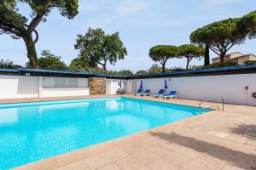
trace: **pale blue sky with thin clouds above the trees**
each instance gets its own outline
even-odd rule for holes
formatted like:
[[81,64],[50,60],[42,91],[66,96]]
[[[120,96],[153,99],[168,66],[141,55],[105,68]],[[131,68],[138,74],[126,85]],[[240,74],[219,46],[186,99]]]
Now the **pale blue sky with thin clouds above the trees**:
[[[88,27],[101,27],[106,33],[119,31],[128,50],[124,60],[108,65],[108,70],[147,70],[154,62],[148,57],[149,48],[158,44],[189,43],[189,35],[196,28],[213,21],[239,17],[256,10],[253,0],[80,0],[79,14],[67,20],[53,10],[47,22],[38,26],[38,55],[43,49],[62,57],[67,64],[77,57],[73,48],[77,34]],[[20,13],[29,15],[29,8],[20,5]],[[24,65],[26,47],[22,40],[0,35],[0,59],[10,59]],[[256,40],[231,48],[230,52],[256,54]],[[211,54],[214,57],[215,54]],[[192,60],[193,65],[201,65]],[[166,66],[185,66],[185,59],[170,59]]]

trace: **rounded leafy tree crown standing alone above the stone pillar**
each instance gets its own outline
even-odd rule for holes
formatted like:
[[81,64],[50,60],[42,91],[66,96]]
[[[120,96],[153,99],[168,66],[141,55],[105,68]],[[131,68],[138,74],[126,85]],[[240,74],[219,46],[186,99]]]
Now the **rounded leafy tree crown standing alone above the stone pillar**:
[[117,60],[124,59],[127,55],[119,32],[108,35],[101,28],[89,28],[84,36],[78,35],[74,47],[79,50],[80,57],[89,61],[90,67],[102,65],[104,70],[107,70],[107,62],[114,65]]

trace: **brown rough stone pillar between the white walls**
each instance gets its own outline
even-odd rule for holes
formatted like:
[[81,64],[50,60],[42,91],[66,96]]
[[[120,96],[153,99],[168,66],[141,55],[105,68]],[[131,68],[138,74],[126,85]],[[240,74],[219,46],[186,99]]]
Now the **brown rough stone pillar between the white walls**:
[[106,94],[106,77],[89,77],[90,95]]

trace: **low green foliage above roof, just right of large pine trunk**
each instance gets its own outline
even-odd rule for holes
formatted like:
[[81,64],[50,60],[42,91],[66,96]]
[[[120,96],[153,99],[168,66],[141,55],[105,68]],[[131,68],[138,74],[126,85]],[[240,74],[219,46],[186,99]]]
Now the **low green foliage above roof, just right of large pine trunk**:
[[[67,65],[61,61],[61,57],[50,54],[49,50],[43,50],[41,57],[38,59],[39,69],[67,71]],[[26,63],[26,67],[31,68],[30,63]]]

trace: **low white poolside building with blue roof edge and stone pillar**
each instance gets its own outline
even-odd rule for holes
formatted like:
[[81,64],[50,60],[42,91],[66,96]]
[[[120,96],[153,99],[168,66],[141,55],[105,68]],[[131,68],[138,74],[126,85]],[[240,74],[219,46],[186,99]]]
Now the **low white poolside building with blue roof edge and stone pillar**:
[[179,99],[207,100],[223,96],[226,103],[256,105],[256,99],[253,98],[253,93],[256,93],[256,65],[134,76],[3,69],[0,70],[0,99],[116,94],[120,86],[131,93],[137,91],[141,81],[143,90],[157,93],[160,88],[164,88],[165,80],[167,92],[176,90]]

